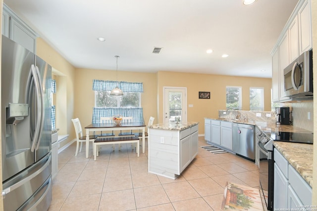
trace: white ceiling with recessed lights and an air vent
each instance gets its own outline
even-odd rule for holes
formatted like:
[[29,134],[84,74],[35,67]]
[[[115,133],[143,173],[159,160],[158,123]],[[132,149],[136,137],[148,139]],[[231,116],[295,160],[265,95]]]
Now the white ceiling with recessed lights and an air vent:
[[270,51],[297,2],[4,0],[77,68],[115,70],[119,55],[118,71],[261,78],[271,78]]

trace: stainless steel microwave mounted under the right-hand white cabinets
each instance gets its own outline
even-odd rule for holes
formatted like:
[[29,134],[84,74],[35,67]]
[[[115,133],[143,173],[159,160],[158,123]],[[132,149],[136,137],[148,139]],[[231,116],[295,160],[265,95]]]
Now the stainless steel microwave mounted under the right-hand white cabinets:
[[305,51],[284,69],[285,96],[313,98],[313,50]]

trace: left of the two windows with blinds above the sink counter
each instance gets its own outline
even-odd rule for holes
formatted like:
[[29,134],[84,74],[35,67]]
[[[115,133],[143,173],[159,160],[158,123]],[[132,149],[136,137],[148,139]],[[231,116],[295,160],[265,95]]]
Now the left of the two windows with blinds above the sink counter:
[[241,92],[240,86],[226,86],[226,109],[242,109]]

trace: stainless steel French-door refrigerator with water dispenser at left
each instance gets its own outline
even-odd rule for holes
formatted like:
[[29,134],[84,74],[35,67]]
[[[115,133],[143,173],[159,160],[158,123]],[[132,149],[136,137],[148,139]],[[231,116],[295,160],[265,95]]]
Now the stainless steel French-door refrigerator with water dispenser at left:
[[52,201],[52,67],[2,36],[1,146],[4,211]]

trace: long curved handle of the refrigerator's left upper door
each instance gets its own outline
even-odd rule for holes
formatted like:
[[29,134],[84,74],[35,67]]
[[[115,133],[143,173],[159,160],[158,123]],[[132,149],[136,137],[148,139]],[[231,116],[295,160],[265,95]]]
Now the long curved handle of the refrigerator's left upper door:
[[[33,82],[34,82],[36,102],[37,102],[38,107],[42,107],[42,104],[40,103],[41,99],[40,99],[39,82],[37,80],[37,73],[36,73],[36,69],[35,69],[33,64],[31,66],[31,73],[32,73],[32,78],[33,78]],[[40,109],[42,110],[42,108],[40,108]],[[32,147],[31,147],[32,152],[34,152],[35,147],[36,147],[36,143],[40,139],[40,129],[39,129],[41,126],[41,113],[39,112],[40,109],[37,110],[37,120],[36,120],[35,132],[34,132]]]

